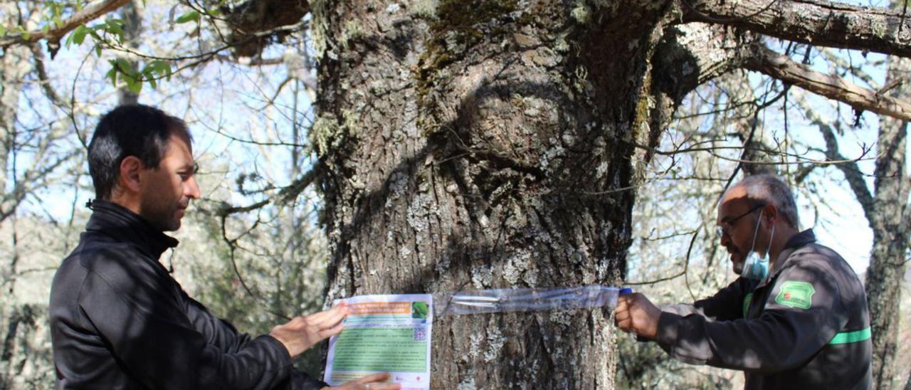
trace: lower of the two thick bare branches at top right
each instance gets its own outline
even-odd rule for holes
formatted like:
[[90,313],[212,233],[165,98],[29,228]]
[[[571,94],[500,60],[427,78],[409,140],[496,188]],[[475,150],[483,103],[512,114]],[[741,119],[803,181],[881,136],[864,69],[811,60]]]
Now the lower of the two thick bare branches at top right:
[[894,97],[882,96],[872,89],[860,87],[841,77],[816,72],[762,45],[753,46],[743,67],[841,101],[858,111],[872,111],[880,115],[911,120],[911,104]]

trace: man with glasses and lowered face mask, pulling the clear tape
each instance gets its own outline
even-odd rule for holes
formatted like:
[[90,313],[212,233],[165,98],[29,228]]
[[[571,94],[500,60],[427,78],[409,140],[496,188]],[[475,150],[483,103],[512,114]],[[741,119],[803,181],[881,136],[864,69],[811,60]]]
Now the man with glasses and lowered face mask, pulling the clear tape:
[[658,308],[640,293],[621,296],[619,328],[683,362],[742,370],[748,389],[871,388],[864,286],[797,221],[781,180],[745,178],[724,194],[717,220],[741,276],[691,305]]

